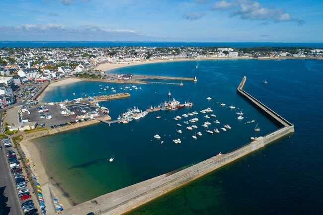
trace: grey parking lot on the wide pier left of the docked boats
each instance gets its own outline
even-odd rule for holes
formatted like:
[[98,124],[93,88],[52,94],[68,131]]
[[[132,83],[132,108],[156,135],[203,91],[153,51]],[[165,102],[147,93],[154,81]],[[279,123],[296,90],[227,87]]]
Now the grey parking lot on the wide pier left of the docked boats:
[[[55,125],[60,125],[60,124],[64,124],[67,123],[69,121],[75,121],[76,120],[76,116],[75,115],[71,115],[71,116],[64,116],[61,114],[61,109],[59,106],[57,105],[46,105],[46,108],[48,109],[48,111],[43,112],[43,113],[39,113],[37,110],[37,107],[40,107],[39,105],[36,107],[32,107],[29,108],[29,112],[30,115],[28,114],[28,112],[24,112],[23,114],[23,119],[29,119],[32,122],[37,122],[39,125],[44,123],[46,128],[51,128],[51,126],[55,126]],[[45,118],[40,118],[41,114],[45,115]],[[46,116],[51,114],[52,115],[52,119],[46,119]]]

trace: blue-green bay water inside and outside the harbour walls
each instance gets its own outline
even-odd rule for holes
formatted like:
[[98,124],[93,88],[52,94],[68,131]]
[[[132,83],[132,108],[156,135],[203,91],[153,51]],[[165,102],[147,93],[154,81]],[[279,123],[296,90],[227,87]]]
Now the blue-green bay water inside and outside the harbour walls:
[[[198,65],[198,69],[195,66]],[[116,73],[197,76],[197,83],[184,86],[137,85],[127,90],[129,99],[102,102],[112,119],[127,108],[146,109],[172,97],[191,101],[192,108],[148,114],[129,124],[96,124],[34,140],[49,176],[79,204],[99,195],[189,166],[221,152],[228,152],[278,127],[236,92],[243,75],[245,90],[295,124],[295,134],[273,143],[195,182],[177,189],[131,215],[321,215],[323,205],[323,61],[319,60],[209,60],[147,64],[114,70]],[[266,79],[268,84],[263,84]],[[100,86],[101,85],[101,86]],[[104,91],[101,87],[109,86]],[[109,94],[111,87],[124,92],[125,84],[78,82],[48,91],[44,101],[62,101],[87,95]],[[120,88],[123,89],[120,89]],[[73,96],[72,93],[76,93]],[[206,100],[206,97],[212,100]],[[226,107],[221,107],[226,103]],[[234,105],[244,113],[238,121]],[[215,119],[199,113],[198,131],[185,129],[177,115],[210,107]],[[161,119],[156,119],[160,115]],[[191,117],[192,118],[192,117]],[[190,119],[190,118],[188,118]],[[208,135],[210,128],[230,124],[231,131]],[[261,132],[255,134],[256,123]],[[180,123],[183,126],[177,127]],[[202,129],[203,128],[203,129]],[[181,129],[183,134],[178,134]],[[155,134],[161,136],[157,141]],[[171,140],[180,138],[181,144]],[[161,141],[164,143],[161,144]],[[108,159],[113,156],[112,163]]]

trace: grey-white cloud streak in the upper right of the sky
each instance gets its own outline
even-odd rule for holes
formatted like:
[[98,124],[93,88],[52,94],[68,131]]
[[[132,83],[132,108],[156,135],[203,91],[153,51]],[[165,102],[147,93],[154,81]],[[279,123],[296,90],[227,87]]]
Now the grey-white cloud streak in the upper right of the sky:
[[239,16],[248,20],[263,20],[273,22],[297,22],[304,24],[302,19],[292,18],[289,13],[274,7],[263,7],[253,0],[219,0],[215,2],[213,10],[231,10],[230,17]]

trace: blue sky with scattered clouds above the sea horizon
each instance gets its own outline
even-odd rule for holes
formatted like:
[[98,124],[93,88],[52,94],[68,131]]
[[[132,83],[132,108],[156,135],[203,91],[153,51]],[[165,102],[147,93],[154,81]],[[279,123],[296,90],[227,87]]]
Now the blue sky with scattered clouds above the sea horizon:
[[0,40],[323,42],[323,0],[1,0]]

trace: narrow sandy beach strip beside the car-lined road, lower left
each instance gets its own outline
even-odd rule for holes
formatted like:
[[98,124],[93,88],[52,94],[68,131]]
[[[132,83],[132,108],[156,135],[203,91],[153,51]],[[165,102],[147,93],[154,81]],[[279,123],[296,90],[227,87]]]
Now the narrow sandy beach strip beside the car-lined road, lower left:
[[36,175],[40,186],[43,187],[44,185],[49,184],[51,192],[59,202],[64,205],[64,209],[71,208],[75,205],[73,201],[65,195],[64,191],[56,185],[56,182],[49,178],[41,160],[37,145],[30,140],[23,140],[20,145],[26,154],[26,157],[29,159],[31,169],[34,175]]

